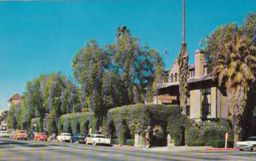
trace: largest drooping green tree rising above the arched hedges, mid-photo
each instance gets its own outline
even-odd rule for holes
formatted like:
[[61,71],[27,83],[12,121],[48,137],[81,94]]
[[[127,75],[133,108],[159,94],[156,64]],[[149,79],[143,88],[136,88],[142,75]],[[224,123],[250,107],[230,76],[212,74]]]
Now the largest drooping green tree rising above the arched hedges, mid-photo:
[[109,108],[148,99],[161,80],[160,64],[157,51],[141,48],[125,26],[117,28],[114,44],[100,47],[95,40],[88,41],[73,60],[73,75],[81,84],[80,110],[94,112],[99,129]]

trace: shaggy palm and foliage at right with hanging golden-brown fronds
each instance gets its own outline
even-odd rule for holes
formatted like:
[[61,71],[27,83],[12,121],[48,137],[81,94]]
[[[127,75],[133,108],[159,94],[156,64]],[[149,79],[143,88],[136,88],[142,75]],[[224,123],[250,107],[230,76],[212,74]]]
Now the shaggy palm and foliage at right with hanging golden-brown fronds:
[[256,13],[247,15],[241,28],[236,23],[219,27],[207,37],[205,52],[214,79],[228,95],[236,142],[256,77]]

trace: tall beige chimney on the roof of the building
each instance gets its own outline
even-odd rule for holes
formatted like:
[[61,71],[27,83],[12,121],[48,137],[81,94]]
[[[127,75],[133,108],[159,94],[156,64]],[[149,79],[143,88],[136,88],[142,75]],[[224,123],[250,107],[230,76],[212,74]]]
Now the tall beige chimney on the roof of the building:
[[201,49],[195,52],[195,79],[199,79],[204,75],[204,53]]

